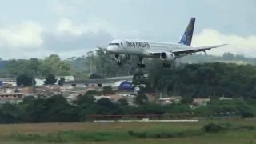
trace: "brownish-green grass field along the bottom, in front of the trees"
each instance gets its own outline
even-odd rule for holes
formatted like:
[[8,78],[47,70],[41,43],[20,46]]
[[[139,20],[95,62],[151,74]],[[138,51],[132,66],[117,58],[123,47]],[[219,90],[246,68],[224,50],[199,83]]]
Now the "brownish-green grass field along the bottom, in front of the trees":
[[256,144],[256,130],[237,130],[186,138],[135,138],[128,131],[161,133],[200,130],[207,123],[254,125],[256,120],[201,122],[102,122],[0,125],[1,144]]

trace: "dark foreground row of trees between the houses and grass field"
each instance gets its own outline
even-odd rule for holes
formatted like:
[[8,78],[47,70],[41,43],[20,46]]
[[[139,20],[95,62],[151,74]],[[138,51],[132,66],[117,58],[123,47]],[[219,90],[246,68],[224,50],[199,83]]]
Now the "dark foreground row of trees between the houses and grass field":
[[[6,102],[0,106],[0,123],[24,122],[86,122],[91,121],[91,115],[162,115],[166,114],[201,114],[206,118],[217,116],[254,117],[256,102],[241,100],[219,101],[212,99],[206,106],[190,108],[189,101],[183,99],[180,103],[160,105],[151,103],[143,93],[134,99],[135,106],[128,105],[126,99],[117,102],[109,98],[95,100],[94,92],[78,95],[74,101],[68,101],[62,95],[50,98],[25,97],[18,104]],[[183,117],[183,118],[184,118]],[[103,118],[103,119],[106,119]]]

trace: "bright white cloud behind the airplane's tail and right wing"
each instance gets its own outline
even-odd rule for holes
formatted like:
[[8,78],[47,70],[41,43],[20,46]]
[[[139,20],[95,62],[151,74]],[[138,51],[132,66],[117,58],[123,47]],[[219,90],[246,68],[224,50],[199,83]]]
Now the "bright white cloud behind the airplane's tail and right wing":
[[194,35],[192,46],[210,46],[218,44],[229,44],[207,51],[209,54],[222,55],[225,52],[233,54],[244,54],[256,56],[256,35],[241,37],[235,34],[221,34],[217,30],[204,29],[200,34]]

